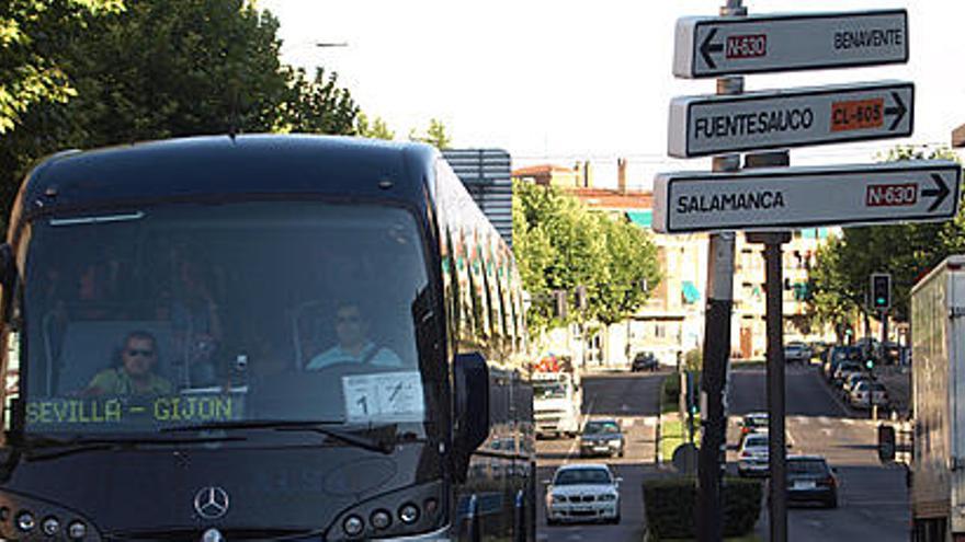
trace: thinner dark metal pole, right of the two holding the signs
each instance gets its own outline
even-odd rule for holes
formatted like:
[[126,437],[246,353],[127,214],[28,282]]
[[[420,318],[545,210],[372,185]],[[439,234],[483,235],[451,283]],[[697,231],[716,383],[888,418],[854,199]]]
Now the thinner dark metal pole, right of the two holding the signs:
[[[745,168],[786,166],[787,151],[748,154]],[[768,321],[768,484],[769,515],[772,542],[787,540],[787,446],[784,433],[784,307],[783,263],[781,245],[791,241],[788,232],[748,233],[751,243],[764,244]]]

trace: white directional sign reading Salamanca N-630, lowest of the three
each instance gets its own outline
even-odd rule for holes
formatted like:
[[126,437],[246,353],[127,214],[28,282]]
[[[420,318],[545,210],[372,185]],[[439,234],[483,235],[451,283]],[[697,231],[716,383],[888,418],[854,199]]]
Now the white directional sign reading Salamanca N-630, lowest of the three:
[[654,182],[654,230],[684,233],[950,219],[962,168],[945,160],[666,173]]

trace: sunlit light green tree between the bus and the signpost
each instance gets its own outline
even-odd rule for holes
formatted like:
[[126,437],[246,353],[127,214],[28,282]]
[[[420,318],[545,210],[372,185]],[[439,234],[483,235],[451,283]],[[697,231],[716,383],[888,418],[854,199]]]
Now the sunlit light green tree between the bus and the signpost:
[[[656,249],[647,234],[587,209],[557,188],[513,185],[513,252],[523,287],[533,297],[532,330],[576,321],[618,322],[636,312],[659,280]],[[575,310],[576,288],[588,292],[586,313]],[[554,315],[552,292],[565,290],[566,319]]]

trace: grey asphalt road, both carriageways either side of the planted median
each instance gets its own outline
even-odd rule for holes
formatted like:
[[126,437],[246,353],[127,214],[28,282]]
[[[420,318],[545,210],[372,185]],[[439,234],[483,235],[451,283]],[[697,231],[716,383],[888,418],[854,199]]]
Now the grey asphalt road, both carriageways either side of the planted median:
[[[666,374],[666,373],[665,373]],[[537,454],[541,480],[548,480],[559,464],[604,461],[623,477],[618,526],[547,527],[542,506],[537,524],[541,541],[605,540],[639,542],[644,533],[640,483],[666,471],[654,465],[656,415],[663,374],[612,374],[584,378],[583,414],[587,417],[617,417],[627,431],[629,446],[624,458],[581,459],[571,439],[540,440]],[[841,482],[840,506],[835,510],[793,508],[788,511],[788,538],[821,542],[875,542],[908,539],[909,508],[905,474],[899,468],[882,466],[875,451],[875,424],[866,413],[845,408],[820,379],[816,368],[792,367],[786,373],[787,430],[792,453],[819,453],[828,458]],[[730,377],[730,423],[728,442],[736,445],[736,422],[740,415],[763,411],[767,405],[763,369],[738,369]],[[736,459],[735,450],[728,460]],[[733,465],[730,465],[734,469]],[[768,538],[767,514],[758,526],[761,540]]]

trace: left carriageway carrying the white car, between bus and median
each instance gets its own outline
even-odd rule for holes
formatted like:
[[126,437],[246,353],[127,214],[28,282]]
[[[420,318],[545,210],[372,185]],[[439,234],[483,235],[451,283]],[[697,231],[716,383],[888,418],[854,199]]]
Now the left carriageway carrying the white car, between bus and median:
[[558,526],[546,524],[543,505],[546,485],[541,484],[537,507],[536,538],[540,541],[578,542],[640,542],[644,535],[643,489],[645,476],[654,475],[656,453],[657,394],[663,379],[661,373],[623,373],[583,378],[583,416],[586,418],[616,417],[627,438],[623,458],[582,459],[578,457],[576,440],[540,440],[536,443],[540,480],[548,480],[556,468],[571,462],[605,462],[623,478],[621,483],[621,516],[617,526]]

